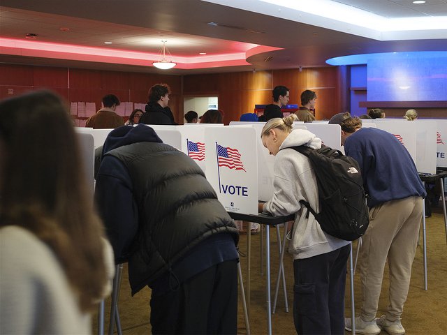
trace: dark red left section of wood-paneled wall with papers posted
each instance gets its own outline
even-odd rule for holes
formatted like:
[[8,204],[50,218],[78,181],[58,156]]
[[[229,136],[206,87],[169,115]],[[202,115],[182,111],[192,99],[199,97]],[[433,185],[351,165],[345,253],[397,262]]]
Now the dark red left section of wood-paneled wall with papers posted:
[[0,98],[45,88],[57,91],[68,102],[96,103],[97,109],[105,94],[115,94],[123,102],[147,103],[149,88],[160,82],[170,86],[170,108],[182,123],[182,78],[177,75],[0,64]]

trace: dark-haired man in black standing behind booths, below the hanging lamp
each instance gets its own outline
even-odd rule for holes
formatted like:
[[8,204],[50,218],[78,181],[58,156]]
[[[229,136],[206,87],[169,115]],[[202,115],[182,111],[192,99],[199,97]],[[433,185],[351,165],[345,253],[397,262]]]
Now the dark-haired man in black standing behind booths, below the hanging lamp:
[[168,107],[170,89],[167,84],[155,84],[149,89],[149,102],[140,124],[177,124]]

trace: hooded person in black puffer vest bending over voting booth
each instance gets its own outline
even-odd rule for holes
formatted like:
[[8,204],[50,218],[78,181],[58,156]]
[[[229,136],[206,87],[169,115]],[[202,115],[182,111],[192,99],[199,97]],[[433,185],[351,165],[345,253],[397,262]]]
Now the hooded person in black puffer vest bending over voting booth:
[[141,124],[102,154],[96,204],[132,295],[152,288],[153,334],[236,334],[239,235],[203,171]]

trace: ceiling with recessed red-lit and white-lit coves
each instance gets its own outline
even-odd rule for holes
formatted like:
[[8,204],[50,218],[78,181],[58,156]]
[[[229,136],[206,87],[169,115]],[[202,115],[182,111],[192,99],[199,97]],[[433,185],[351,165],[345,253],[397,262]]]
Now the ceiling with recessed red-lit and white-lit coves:
[[[182,75],[446,51],[447,0],[1,0],[0,63]],[[434,27],[430,27],[434,24]],[[24,38],[36,34],[35,40]],[[105,45],[105,42],[112,44]],[[205,52],[205,55],[200,55]]]

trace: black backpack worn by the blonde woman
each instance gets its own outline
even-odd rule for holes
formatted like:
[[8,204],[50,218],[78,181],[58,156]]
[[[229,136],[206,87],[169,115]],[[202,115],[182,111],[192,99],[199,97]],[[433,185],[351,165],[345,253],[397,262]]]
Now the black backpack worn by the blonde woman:
[[353,241],[365,234],[369,224],[368,208],[360,168],[355,159],[342,151],[321,147],[291,147],[309,157],[318,184],[320,213],[301,200],[328,234]]

